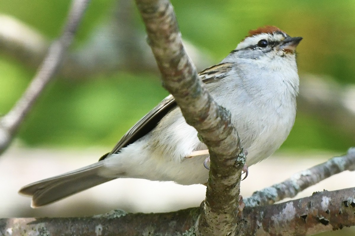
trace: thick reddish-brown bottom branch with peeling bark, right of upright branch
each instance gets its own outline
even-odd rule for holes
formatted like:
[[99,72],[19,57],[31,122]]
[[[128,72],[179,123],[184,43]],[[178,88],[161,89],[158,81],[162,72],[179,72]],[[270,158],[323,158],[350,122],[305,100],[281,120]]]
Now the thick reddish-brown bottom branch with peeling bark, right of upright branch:
[[[315,235],[355,225],[355,189],[316,192],[284,203],[246,207],[244,234],[258,236]],[[248,231],[249,230],[249,231]]]

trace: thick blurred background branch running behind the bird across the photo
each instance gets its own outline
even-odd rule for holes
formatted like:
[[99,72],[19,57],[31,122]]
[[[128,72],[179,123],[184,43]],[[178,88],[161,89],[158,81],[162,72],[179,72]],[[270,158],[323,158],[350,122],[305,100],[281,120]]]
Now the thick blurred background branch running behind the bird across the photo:
[[[67,53],[59,74],[68,79],[128,70],[134,73],[157,73],[152,52],[144,34],[133,26],[129,13],[133,2],[121,0],[113,8],[112,17],[92,32],[86,44]],[[120,17],[123,14],[124,17]],[[186,51],[197,68],[212,65],[212,59],[189,42]],[[0,53],[38,67],[48,51],[49,41],[37,31],[8,16],[0,16]],[[324,123],[338,127],[348,137],[355,133],[355,89],[340,86],[320,76],[301,76],[297,109],[319,117]],[[354,137],[355,141],[355,137]]]

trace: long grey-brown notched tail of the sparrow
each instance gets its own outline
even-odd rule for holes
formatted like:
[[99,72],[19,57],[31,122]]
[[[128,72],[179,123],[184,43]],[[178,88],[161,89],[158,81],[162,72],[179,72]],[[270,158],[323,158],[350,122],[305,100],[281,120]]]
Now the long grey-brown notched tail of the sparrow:
[[20,194],[32,196],[31,207],[40,207],[115,178],[98,175],[101,161],[22,187]]

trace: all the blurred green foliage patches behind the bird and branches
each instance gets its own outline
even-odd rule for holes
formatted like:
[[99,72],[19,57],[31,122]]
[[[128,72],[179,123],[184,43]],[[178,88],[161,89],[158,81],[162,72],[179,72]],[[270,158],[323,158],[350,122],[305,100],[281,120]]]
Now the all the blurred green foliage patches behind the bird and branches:
[[[247,31],[271,24],[291,36],[303,36],[298,48],[300,73],[331,75],[354,83],[355,2],[344,0],[173,0],[184,38],[208,50],[215,62],[233,50]],[[108,21],[114,1],[92,1],[75,45],[87,40],[95,27]],[[49,39],[60,35],[70,0],[0,1],[0,13],[11,15]],[[143,30],[137,12],[137,27]],[[124,32],[122,32],[124,33]],[[0,113],[15,103],[34,71],[0,54]],[[159,78],[123,71],[84,80],[57,78],[45,90],[20,129],[28,145],[113,146],[142,115],[167,93]],[[315,117],[297,114],[295,127],[283,145],[287,149],[345,150],[349,139]]]

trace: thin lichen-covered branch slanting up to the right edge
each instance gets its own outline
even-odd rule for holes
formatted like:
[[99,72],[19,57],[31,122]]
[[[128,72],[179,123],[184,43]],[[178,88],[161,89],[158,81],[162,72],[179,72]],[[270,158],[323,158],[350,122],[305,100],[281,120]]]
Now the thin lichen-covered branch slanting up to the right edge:
[[292,175],[289,179],[271,187],[254,192],[244,200],[248,207],[271,205],[286,197],[295,197],[304,189],[343,171],[354,171],[355,148],[350,148],[344,156],[334,157],[317,166]]

